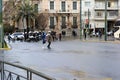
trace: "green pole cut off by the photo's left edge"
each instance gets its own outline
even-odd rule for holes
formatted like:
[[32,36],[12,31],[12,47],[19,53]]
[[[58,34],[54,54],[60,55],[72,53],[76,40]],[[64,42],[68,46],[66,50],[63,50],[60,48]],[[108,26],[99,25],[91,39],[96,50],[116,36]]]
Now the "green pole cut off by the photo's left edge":
[[2,22],[2,0],[0,0],[0,48],[4,47],[3,22]]

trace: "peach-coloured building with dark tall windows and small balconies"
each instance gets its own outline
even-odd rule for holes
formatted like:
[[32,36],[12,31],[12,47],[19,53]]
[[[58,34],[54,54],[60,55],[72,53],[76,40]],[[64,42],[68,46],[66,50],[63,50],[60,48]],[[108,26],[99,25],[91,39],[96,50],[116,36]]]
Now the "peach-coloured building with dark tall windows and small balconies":
[[39,12],[49,13],[46,30],[64,30],[67,34],[73,29],[79,30],[79,5],[79,0],[41,0],[38,4]]

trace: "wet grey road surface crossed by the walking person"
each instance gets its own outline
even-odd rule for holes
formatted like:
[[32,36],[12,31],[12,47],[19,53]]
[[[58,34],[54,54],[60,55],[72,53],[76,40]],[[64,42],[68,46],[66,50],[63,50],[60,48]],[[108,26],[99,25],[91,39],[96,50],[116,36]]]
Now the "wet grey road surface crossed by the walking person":
[[[11,42],[0,59],[43,72],[57,80],[120,80],[120,44],[80,40]],[[46,45],[47,46],[47,45]]]

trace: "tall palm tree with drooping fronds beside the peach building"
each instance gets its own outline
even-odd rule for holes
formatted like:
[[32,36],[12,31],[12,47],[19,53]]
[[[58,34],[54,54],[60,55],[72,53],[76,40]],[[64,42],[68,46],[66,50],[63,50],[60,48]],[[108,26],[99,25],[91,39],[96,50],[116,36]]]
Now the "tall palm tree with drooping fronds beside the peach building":
[[[24,32],[25,32],[25,26],[24,25],[26,23],[27,35],[28,35],[28,32],[29,32],[29,29],[31,28],[30,27],[31,23],[34,22],[35,18],[36,18],[36,13],[35,13],[35,9],[34,9],[33,5],[31,5],[28,1],[26,2],[25,0],[23,0],[23,3],[18,8],[16,21],[19,22],[20,20],[22,20]],[[28,38],[28,36],[26,36],[26,38]]]

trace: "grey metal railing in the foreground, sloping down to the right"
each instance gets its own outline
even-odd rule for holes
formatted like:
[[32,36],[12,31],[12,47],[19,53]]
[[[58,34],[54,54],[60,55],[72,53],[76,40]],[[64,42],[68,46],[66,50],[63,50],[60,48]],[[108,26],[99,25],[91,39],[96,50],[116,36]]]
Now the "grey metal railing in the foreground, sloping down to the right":
[[41,72],[6,61],[0,61],[0,74],[0,80],[55,80]]

